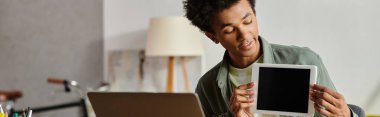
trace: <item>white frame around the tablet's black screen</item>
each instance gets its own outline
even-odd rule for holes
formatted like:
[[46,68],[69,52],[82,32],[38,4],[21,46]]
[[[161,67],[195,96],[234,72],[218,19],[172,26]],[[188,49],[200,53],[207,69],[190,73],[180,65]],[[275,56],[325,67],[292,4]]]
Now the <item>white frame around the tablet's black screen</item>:
[[[260,99],[257,98],[258,92],[257,89],[260,86],[259,84],[259,73],[261,67],[272,67],[272,68],[290,68],[290,69],[310,69],[310,85],[316,83],[317,79],[317,67],[314,65],[291,65],[291,64],[262,64],[262,63],[255,63],[252,68],[252,81],[255,83],[254,85],[254,99],[255,104],[253,108],[251,109],[253,113],[261,113],[261,114],[275,114],[275,115],[291,115],[291,116],[308,116],[312,117],[314,116],[314,106],[313,102],[310,100],[309,97],[309,104],[308,104],[308,112],[307,113],[301,113],[301,112],[284,112],[284,111],[272,111],[272,110],[258,110],[256,102]],[[310,87],[309,87],[310,90]],[[310,96],[310,95],[309,95]]]

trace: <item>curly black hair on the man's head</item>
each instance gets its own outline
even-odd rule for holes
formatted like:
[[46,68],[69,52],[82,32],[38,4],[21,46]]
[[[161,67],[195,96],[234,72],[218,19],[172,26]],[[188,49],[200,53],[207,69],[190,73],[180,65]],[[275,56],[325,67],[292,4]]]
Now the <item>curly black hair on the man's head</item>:
[[[211,21],[214,16],[228,9],[240,0],[185,0],[183,7],[186,11],[186,17],[191,23],[197,26],[203,32],[212,33]],[[248,0],[252,10],[255,9],[256,0]]]

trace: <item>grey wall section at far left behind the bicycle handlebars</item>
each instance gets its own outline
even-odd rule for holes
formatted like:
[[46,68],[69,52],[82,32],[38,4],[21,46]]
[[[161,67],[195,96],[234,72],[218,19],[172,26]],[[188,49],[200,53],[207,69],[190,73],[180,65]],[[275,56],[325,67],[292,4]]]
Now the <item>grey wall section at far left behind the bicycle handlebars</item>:
[[[100,83],[102,17],[102,0],[0,0],[0,90],[23,92],[17,110],[79,100],[49,76]],[[79,117],[79,109],[33,117]]]

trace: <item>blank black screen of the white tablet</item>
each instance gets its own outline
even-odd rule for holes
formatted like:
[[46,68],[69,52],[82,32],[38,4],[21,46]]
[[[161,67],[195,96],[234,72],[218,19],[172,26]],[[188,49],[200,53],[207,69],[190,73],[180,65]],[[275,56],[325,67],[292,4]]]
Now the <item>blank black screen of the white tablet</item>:
[[258,110],[307,113],[310,69],[259,69]]

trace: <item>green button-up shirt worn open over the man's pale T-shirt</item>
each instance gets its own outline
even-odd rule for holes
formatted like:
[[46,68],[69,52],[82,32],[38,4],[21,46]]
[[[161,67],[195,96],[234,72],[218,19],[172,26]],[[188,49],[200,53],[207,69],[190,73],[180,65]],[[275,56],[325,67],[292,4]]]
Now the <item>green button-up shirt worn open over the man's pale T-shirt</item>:
[[[321,58],[309,48],[270,44],[261,37],[259,40],[263,51],[263,63],[315,65],[318,67],[317,84],[336,90]],[[223,60],[204,74],[198,82],[195,92],[207,117],[233,116],[228,107],[233,91],[229,82],[229,63],[228,53],[225,52]],[[355,113],[352,115],[357,116]],[[314,116],[320,117],[321,114],[316,112]]]

